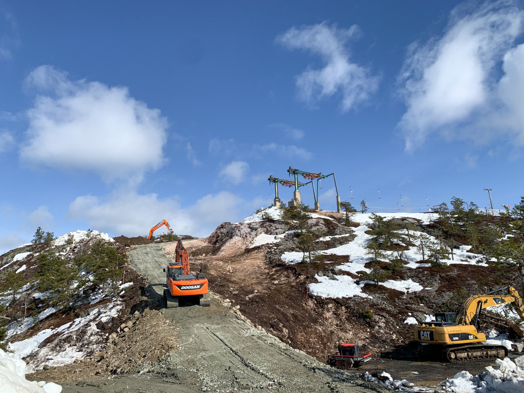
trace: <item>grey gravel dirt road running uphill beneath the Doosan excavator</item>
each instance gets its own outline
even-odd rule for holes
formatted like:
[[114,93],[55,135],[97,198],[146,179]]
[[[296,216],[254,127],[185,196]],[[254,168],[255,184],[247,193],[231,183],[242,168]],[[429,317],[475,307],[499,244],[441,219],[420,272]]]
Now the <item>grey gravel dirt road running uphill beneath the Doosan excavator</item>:
[[[162,268],[168,261],[162,245],[139,246],[129,258],[132,266],[151,283],[150,290],[161,296],[165,281]],[[267,388],[282,393],[370,393],[383,390],[327,367],[260,332],[217,297],[212,298],[209,308],[190,305],[166,310],[165,315],[176,327],[173,336],[176,336],[178,351],[151,365],[147,373],[84,386],[65,386],[64,392],[243,392]]]

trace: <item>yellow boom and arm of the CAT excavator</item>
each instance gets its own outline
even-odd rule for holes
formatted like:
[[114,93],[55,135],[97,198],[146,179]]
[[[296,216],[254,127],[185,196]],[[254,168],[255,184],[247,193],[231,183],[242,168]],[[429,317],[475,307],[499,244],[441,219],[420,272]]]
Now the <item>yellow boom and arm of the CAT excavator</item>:
[[467,299],[464,308],[457,314],[455,324],[477,325],[482,309],[505,303],[511,303],[520,316],[520,319],[524,321],[524,304],[522,298],[515,288],[508,286]]

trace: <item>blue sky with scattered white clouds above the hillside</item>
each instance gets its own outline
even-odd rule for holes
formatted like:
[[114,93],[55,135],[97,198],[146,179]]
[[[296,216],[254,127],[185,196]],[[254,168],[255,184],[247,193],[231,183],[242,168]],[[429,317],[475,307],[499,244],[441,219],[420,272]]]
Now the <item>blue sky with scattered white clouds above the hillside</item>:
[[37,226],[206,236],[289,166],[376,211],[513,205],[523,31],[518,1],[0,1],[0,252]]

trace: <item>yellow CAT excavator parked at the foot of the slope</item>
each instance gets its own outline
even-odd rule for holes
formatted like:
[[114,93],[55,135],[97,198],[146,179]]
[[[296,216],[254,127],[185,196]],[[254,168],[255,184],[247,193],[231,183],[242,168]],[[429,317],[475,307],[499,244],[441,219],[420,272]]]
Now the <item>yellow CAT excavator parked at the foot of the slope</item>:
[[[460,312],[436,313],[435,321],[415,327],[415,340],[421,344],[419,354],[440,356],[449,362],[506,357],[508,349],[504,345],[478,344],[486,341],[485,333],[479,332],[481,311],[504,303],[510,303],[524,321],[524,303],[515,288],[504,287],[478,294],[467,299]],[[506,322],[513,325],[514,331],[522,333],[517,324]]]

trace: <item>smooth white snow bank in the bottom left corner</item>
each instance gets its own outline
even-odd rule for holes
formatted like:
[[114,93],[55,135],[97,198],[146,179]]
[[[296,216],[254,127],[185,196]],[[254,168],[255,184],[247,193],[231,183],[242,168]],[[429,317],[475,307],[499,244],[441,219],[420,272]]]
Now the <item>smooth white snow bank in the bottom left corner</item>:
[[62,387],[45,381],[26,380],[26,362],[0,350],[0,389],[3,393],[60,393]]

